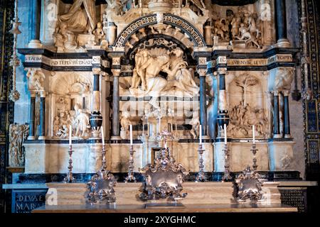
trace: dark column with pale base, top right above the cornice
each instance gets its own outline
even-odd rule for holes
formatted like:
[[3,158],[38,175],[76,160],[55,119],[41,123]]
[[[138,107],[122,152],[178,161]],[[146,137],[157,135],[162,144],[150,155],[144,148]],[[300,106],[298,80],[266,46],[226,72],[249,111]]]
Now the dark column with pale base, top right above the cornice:
[[277,45],[280,48],[289,48],[290,43],[287,38],[287,14],[286,14],[286,0],[274,0],[275,14],[276,14],[276,34]]

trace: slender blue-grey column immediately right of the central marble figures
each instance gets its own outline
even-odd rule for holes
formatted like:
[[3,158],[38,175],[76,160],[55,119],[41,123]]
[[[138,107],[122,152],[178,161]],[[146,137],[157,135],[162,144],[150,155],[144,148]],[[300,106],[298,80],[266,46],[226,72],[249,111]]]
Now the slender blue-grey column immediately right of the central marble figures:
[[200,77],[200,123],[202,135],[207,135],[207,100],[206,100],[206,69],[198,69]]

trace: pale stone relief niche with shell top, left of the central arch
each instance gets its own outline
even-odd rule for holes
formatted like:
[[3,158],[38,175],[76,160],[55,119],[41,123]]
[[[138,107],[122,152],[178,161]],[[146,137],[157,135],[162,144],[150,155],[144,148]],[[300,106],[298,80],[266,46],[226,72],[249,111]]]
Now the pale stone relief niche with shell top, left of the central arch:
[[91,72],[56,72],[50,78],[48,95],[50,138],[67,139],[70,125],[73,126],[73,137],[82,139],[90,137],[89,128],[83,133],[77,133],[77,128],[82,118],[89,123],[91,80]]

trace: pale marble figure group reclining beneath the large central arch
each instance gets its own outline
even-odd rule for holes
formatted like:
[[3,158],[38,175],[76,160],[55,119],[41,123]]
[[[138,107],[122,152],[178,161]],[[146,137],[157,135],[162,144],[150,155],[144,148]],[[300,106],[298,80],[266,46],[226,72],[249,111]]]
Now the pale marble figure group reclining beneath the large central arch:
[[[198,94],[199,89],[193,79],[193,71],[188,70],[188,64],[183,60],[183,50],[166,50],[165,48],[141,49],[134,57],[135,67],[132,77],[130,92],[150,95],[151,106],[159,109],[157,98],[161,92],[168,90],[180,90],[193,96]],[[160,76],[160,72],[166,72],[167,78]],[[141,88],[139,89],[139,85]]]

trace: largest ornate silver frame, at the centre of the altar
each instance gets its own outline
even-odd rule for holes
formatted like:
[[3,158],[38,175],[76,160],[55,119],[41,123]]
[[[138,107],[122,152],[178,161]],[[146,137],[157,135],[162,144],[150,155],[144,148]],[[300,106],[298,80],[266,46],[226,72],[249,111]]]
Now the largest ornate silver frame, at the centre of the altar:
[[184,199],[187,193],[181,194],[182,183],[189,174],[181,164],[176,164],[170,155],[169,148],[161,149],[155,165],[146,165],[144,171],[144,188],[139,198],[142,200],[154,199]]

